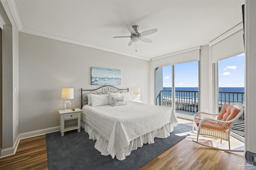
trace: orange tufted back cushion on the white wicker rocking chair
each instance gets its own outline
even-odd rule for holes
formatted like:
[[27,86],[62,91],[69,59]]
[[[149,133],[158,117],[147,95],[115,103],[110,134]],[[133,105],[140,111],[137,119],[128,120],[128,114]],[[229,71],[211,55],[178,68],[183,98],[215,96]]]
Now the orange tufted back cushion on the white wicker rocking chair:
[[231,106],[228,104],[223,104],[223,107],[222,107],[217,119],[221,120],[221,121],[232,120],[238,115],[239,111],[240,110],[234,106]]

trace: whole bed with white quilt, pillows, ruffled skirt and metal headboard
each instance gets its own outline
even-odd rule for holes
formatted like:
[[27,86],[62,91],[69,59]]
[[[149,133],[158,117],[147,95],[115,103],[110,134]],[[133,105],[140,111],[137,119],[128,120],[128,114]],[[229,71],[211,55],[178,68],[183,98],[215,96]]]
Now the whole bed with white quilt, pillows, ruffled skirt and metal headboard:
[[[113,97],[114,96],[114,97]],[[132,150],[170,136],[178,120],[172,107],[132,102],[129,89],[81,89],[81,126],[102,155],[124,160]]]

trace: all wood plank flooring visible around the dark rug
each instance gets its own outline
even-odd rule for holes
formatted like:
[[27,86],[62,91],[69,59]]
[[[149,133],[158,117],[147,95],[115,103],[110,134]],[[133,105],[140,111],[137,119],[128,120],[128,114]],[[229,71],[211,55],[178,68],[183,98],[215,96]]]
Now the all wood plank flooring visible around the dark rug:
[[[244,152],[208,149],[184,139],[140,170],[240,170],[238,158],[242,161]],[[20,169],[48,169],[45,135],[20,140],[15,155],[0,159],[0,170]]]

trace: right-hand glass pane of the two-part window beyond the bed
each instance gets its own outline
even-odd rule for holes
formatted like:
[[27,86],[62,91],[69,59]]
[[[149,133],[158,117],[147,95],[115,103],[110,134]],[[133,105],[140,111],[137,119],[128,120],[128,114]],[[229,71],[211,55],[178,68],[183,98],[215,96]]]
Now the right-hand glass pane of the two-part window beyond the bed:
[[175,64],[175,110],[187,115],[198,111],[198,61]]

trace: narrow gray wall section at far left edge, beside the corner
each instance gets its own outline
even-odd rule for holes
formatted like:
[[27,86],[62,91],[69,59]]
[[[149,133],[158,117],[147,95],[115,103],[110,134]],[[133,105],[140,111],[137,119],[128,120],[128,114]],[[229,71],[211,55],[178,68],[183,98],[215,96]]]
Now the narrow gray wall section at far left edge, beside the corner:
[[[1,156],[14,151],[14,143],[18,137],[18,93],[14,94],[14,86],[18,89],[18,29],[10,14],[6,1],[0,3],[0,15],[6,23],[2,30],[2,149]],[[8,16],[11,16],[10,18]],[[14,25],[14,26],[13,26]]]

